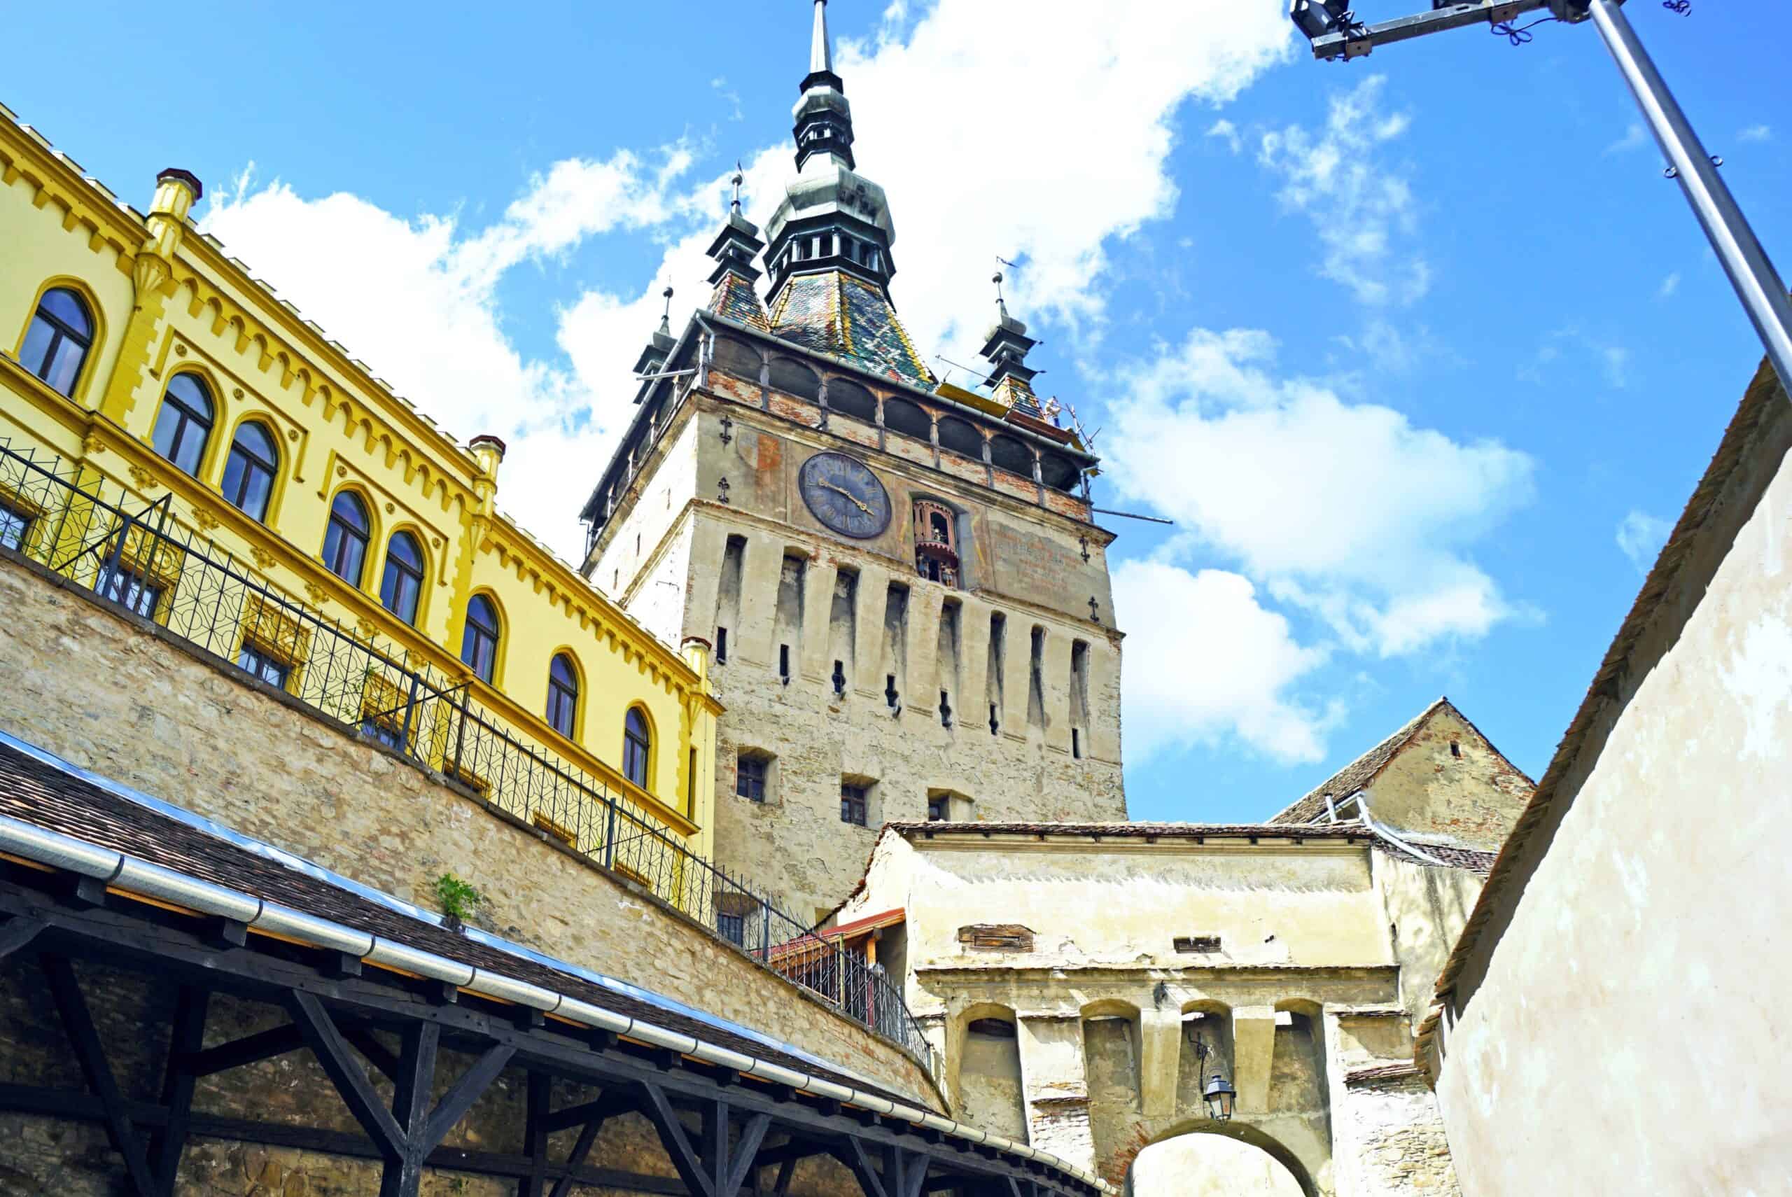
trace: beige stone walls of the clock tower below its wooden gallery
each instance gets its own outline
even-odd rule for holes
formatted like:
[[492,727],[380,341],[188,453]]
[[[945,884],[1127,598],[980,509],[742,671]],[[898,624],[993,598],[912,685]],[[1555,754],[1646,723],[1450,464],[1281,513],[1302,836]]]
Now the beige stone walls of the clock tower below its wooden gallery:
[[[796,477],[812,453],[842,448],[853,421],[819,430],[815,409],[780,419],[758,410],[756,382],[742,385],[713,373],[728,398],[694,392],[672,416],[590,561],[590,577],[658,634],[719,649],[719,862],[806,919],[851,891],[878,824],[925,819],[930,796],[952,796],[955,819],[1125,817],[1109,536],[930,469],[934,446],[919,446],[926,461],[878,453],[874,428],[864,455],[891,525],[835,536]],[[961,588],[916,575],[918,496],[961,511]],[[735,792],[742,751],[771,762],[765,803]],[[864,828],[840,819],[848,779],[869,790]]]

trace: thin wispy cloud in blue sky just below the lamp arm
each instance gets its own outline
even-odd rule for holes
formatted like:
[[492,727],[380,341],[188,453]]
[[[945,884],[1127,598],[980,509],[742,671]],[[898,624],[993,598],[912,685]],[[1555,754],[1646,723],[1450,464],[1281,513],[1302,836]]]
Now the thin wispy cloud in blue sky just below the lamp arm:
[[1314,224],[1321,274],[1378,306],[1412,303],[1430,288],[1412,186],[1382,156],[1410,124],[1405,113],[1383,111],[1385,88],[1385,75],[1369,75],[1331,97],[1324,129],[1288,125],[1265,133],[1258,147],[1258,161],[1283,181],[1279,201]]

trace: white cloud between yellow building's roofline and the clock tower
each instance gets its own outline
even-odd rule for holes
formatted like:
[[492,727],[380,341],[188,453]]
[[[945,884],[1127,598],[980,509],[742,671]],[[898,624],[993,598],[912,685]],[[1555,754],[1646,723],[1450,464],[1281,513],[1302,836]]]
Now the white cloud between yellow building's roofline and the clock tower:
[[586,373],[579,360],[566,369],[516,351],[496,287],[521,262],[685,213],[694,201],[672,186],[690,154],[667,147],[658,158],[556,163],[477,233],[453,215],[403,220],[344,192],[305,199],[281,181],[258,188],[246,172],[211,199],[201,228],[450,435],[505,437],[498,502],[575,555],[581,486],[595,482],[595,462],[633,414],[627,366],[652,317],[638,314],[634,344],[615,346],[616,369]]

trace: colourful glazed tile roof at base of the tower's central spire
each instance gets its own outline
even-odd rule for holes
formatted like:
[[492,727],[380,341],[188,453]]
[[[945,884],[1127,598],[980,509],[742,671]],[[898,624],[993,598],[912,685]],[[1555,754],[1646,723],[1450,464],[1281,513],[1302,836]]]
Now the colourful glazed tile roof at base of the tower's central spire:
[[874,375],[921,387],[934,375],[914,351],[883,292],[844,271],[799,274],[778,292],[771,332],[805,349],[831,353]]

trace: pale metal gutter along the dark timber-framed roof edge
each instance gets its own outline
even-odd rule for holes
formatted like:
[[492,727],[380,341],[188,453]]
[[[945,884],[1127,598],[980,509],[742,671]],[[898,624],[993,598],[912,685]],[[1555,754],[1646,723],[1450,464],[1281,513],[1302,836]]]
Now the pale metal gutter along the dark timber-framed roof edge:
[[1007,1154],[1036,1159],[1086,1184],[1095,1184],[1104,1192],[1113,1192],[1113,1188],[1095,1174],[1084,1172],[1082,1168],[1077,1168],[1050,1152],[1036,1150],[1025,1143],[1016,1143],[998,1134],[978,1131],[977,1127],[966,1127],[914,1106],[903,1106],[873,1093],[860,1093],[858,1089],[823,1081],[821,1077],[810,1077],[790,1068],[783,1068],[781,1064],[772,1064],[771,1061],[742,1055],[740,1052],[731,1052],[729,1048],[667,1030],[665,1027],[658,1027],[638,1018],[624,1018],[622,1014],[613,1014],[611,1011],[604,1011],[588,1002],[581,1002],[539,986],[530,986],[511,977],[489,973],[459,960],[450,960],[448,957],[435,955],[434,952],[410,948],[382,935],[358,932],[332,919],[290,910],[253,894],[244,894],[202,878],[176,873],[111,848],[100,848],[72,835],[63,835],[61,831],[50,831],[22,819],[13,819],[11,815],[0,815],[0,851],[68,873],[79,873],[81,876],[90,876],[116,891],[197,910],[199,914],[233,919],[246,923],[251,928],[274,932],[287,939],[312,943],[319,948],[346,952],[371,964],[403,968],[418,977],[441,980],[477,996],[495,998],[500,1002],[516,1002],[521,996],[525,1005],[539,1009],[545,1014],[556,1014],[597,1030],[609,1030],[616,1036],[668,1048],[679,1052],[681,1055],[692,1055],[726,1068],[738,1068],[747,1075],[762,1077],[776,1084],[787,1084],[810,1097],[857,1106],[858,1109],[869,1109],[876,1115],[900,1118],[918,1127],[962,1138],[969,1143],[984,1143]]

